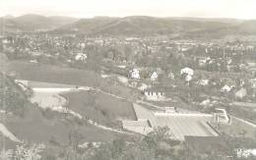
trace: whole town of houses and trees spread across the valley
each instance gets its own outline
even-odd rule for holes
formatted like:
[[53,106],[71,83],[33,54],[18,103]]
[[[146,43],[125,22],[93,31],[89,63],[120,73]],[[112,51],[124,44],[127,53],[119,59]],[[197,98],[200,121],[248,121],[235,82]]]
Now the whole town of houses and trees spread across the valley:
[[[221,81],[222,86],[220,92],[224,94],[232,92],[236,99],[243,100],[251,92],[249,89],[255,90],[256,87],[255,61],[250,58],[237,61],[237,59],[241,59],[241,56],[250,57],[251,54],[255,53],[255,45],[249,42],[234,41],[218,44],[192,40],[173,41],[164,37],[81,37],[76,34],[52,35],[49,33],[24,33],[15,36],[2,36],[0,39],[4,50],[26,53],[32,57],[30,60],[32,63],[37,63],[37,57],[40,58],[41,56],[62,60],[67,63],[86,63],[92,55],[90,52],[94,52],[94,48],[108,47],[110,50],[108,49],[106,52],[111,53],[110,57],[112,58],[110,59],[113,59],[114,65],[118,66],[121,70],[125,69],[126,66],[120,65],[120,62],[126,60],[123,55],[119,55],[120,53],[116,52],[116,48],[128,46],[132,54],[130,57],[135,59],[132,64],[133,68],[129,71],[128,78],[134,81],[140,81],[140,86],[138,86],[140,90],[147,89],[150,84],[158,84],[162,75],[169,80],[175,80],[175,76],[181,77],[187,86],[193,82],[201,86],[207,86],[211,83],[218,83],[219,81],[211,81],[209,78],[198,80],[196,74],[198,71],[207,70],[208,72],[232,73],[233,69],[250,73],[251,77],[244,78],[246,83],[238,86],[233,82],[225,81],[222,83]],[[89,48],[93,48],[93,51],[89,51]],[[140,57],[144,57],[143,55],[155,57],[156,61],[162,61],[163,57],[161,56],[170,56],[173,54],[185,60],[186,64],[190,64],[188,65],[189,67],[183,65],[183,68],[178,71],[179,73],[170,70],[168,72],[164,70],[163,72],[160,66],[142,67],[137,62]],[[109,58],[107,55],[106,58]],[[113,58],[116,55],[117,58]],[[136,68],[135,66],[139,67]],[[153,92],[145,93],[145,96],[147,95],[147,99],[164,100],[164,94],[164,92],[153,90]],[[252,94],[252,96],[255,96],[255,91]]]

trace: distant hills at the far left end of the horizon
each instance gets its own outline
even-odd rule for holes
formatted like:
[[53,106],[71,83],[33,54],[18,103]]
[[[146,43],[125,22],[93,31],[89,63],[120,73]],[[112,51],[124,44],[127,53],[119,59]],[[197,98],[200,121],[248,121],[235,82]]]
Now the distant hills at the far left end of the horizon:
[[38,31],[49,30],[76,22],[78,19],[70,17],[44,17],[40,15],[24,15],[20,17],[0,18],[1,31]]

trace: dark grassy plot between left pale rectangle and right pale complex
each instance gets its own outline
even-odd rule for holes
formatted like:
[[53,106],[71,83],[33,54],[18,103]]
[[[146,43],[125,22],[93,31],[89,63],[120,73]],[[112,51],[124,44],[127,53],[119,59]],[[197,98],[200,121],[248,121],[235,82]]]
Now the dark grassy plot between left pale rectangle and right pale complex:
[[120,127],[118,120],[135,120],[132,103],[96,91],[65,94],[68,108],[108,127]]

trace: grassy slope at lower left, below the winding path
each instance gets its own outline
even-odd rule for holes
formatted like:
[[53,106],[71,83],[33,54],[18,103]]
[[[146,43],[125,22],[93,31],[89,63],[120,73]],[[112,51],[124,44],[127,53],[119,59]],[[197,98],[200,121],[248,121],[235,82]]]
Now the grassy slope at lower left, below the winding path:
[[[5,81],[4,86],[12,88],[10,93],[8,92],[10,96],[15,92],[20,95],[20,99],[24,102],[24,104],[21,105],[20,101],[18,101],[19,103],[17,102],[18,104],[14,105],[16,101],[13,102],[12,98],[8,98],[8,101],[12,103],[6,103],[6,108],[4,109],[9,111],[10,109],[8,108],[12,106],[12,110],[9,111],[9,114],[0,114],[0,123],[20,140],[29,143],[43,142],[49,145],[54,141],[54,144],[63,146],[69,144],[70,134],[74,132],[80,134],[80,143],[86,141],[109,141],[117,136],[123,135],[99,129],[73,116],[54,112],[49,109],[42,110],[27,100],[23,90],[20,89],[13,80],[5,78],[4,75],[0,75],[0,80]],[[1,93],[6,92],[3,88],[4,87],[0,88]],[[1,101],[6,101],[9,94],[3,94]],[[15,99],[17,100],[17,97],[15,97]],[[0,103],[0,108],[2,109],[3,106],[1,106],[1,104],[2,103]],[[20,111],[20,114],[13,114],[16,113],[17,110]],[[3,136],[1,135],[1,137]],[[0,146],[5,145],[5,147],[8,148],[14,147],[15,144],[13,144],[11,140],[5,137],[3,138],[6,140],[1,140]]]

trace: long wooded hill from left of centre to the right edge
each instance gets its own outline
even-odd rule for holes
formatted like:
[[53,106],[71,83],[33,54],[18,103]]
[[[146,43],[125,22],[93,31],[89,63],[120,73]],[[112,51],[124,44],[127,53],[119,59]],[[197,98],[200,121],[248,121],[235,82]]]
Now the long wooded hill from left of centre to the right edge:
[[229,34],[256,34],[255,21],[236,19],[125,18],[81,19],[55,32],[79,32],[89,35],[175,35],[177,37],[222,37]]

